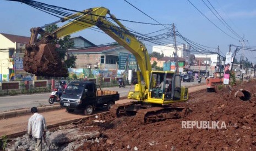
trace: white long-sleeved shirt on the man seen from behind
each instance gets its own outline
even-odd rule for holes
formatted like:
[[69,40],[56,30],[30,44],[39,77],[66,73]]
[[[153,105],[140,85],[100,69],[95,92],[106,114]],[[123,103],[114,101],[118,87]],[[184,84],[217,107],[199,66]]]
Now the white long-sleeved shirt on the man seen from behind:
[[45,118],[41,114],[34,113],[29,118],[28,133],[31,133],[35,138],[41,138],[44,130],[46,130]]

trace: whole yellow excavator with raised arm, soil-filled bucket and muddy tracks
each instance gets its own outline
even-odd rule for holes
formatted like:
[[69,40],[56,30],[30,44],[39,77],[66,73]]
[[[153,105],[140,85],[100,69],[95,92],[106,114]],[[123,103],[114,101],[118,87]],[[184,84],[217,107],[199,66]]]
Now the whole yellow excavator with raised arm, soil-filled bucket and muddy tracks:
[[[109,15],[115,24],[108,21],[106,15]],[[85,28],[97,26],[129,50],[139,66],[138,84],[135,85],[134,91],[128,94],[128,99],[132,100],[129,103],[112,106],[110,110],[112,115],[116,117],[123,114],[135,115],[136,119],[150,123],[168,118],[181,118],[189,112],[187,108],[172,106],[172,103],[188,100],[188,88],[181,86],[180,75],[171,71],[152,71],[145,45],[110,14],[110,10],[104,7],[86,9],[61,21],[67,20],[68,24],[52,33],[47,33],[42,27],[31,28],[31,39],[26,45],[24,55],[24,69],[27,72],[53,77],[67,76],[67,69],[63,67],[53,41]],[[37,39],[38,34],[41,34],[41,39]],[[144,82],[141,82],[142,80]]]

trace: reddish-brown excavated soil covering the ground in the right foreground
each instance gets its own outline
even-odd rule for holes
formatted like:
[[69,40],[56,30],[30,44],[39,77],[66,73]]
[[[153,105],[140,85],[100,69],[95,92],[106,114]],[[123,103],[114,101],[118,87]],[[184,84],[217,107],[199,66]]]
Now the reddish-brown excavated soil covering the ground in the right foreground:
[[[239,98],[243,97],[242,93],[235,97],[241,88],[250,92],[248,101]],[[74,141],[77,146],[72,150],[256,150],[256,80],[237,84],[231,90],[224,86],[216,92],[194,92],[189,101],[176,104],[192,109],[182,119],[141,124],[134,117],[97,115],[72,127],[81,132],[100,132],[100,135],[83,142]],[[182,127],[184,121],[199,124],[193,129],[191,125]],[[211,129],[213,125],[200,127],[200,121],[219,122],[220,129]]]

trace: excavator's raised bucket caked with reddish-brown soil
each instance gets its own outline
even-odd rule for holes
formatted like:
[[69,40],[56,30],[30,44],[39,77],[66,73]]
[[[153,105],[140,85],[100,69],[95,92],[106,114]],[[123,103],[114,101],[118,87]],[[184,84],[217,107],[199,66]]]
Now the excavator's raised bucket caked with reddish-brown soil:
[[68,70],[59,58],[56,46],[50,43],[26,45],[23,68],[37,76],[68,77]]

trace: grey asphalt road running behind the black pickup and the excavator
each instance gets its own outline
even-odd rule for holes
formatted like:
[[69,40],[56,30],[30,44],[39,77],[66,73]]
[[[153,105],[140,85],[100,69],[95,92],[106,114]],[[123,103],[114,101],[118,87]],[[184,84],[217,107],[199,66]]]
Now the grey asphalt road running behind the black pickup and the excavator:
[[[202,82],[205,82],[205,79],[202,79]],[[194,82],[181,82],[181,85],[190,86],[197,84],[198,81]],[[127,85],[126,88],[104,88],[103,90],[118,91],[120,96],[127,96],[129,91],[134,90],[134,86]],[[21,108],[31,108],[39,106],[49,106],[48,98],[50,97],[51,92],[42,93],[42,94],[32,94],[32,95],[15,95],[15,96],[2,96],[0,97],[0,112],[10,111],[14,109]],[[58,103],[58,102],[56,102]]]

